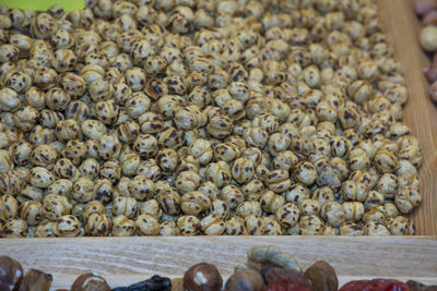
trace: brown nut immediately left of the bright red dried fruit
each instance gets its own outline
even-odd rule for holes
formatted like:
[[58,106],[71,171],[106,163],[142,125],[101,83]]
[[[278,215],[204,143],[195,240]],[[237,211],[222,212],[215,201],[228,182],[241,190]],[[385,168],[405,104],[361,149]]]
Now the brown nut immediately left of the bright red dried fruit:
[[305,270],[304,276],[311,281],[316,291],[336,291],[339,279],[335,270],[327,262],[318,260]]

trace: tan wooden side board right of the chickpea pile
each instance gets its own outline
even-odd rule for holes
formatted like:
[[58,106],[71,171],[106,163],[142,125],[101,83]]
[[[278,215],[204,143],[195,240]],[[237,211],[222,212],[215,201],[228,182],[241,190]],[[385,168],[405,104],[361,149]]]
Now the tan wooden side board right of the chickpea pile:
[[421,141],[424,156],[418,172],[423,203],[412,218],[417,234],[437,235],[437,108],[427,96],[428,82],[423,68],[429,60],[418,45],[420,22],[413,3],[413,0],[379,0],[379,19],[395,59],[401,62],[409,88],[404,121]]

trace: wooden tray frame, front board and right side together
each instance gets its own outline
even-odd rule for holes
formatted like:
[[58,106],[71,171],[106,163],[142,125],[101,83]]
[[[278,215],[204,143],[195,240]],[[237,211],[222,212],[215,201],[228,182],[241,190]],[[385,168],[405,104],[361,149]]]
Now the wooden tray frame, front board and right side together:
[[402,63],[410,92],[405,122],[418,136],[424,162],[420,171],[423,205],[413,214],[422,237],[197,237],[76,238],[0,240],[0,255],[25,269],[51,272],[54,289],[69,288],[83,272],[103,275],[111,287],[153,274],[180,277],[199,262],[215,264],[224,276],[246,260],[250,246],[274,244],[294,254],[303,267],[331,263],[341,283],[362,278],[416,279],[437,284],[437,109],[426,95],[422,69],[428,63],[417,45],[418,22],[411,0],[379,0],[381,25]]

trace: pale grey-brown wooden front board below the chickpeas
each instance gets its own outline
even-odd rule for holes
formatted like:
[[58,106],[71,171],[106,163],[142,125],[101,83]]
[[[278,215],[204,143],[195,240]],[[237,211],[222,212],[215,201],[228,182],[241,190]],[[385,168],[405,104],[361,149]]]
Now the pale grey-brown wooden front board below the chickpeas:
[[346,279],[383,276],[437,283],[436,237],[14,239],[0,241],[0,255],[17,259],[25,269],[54,274],[56,287],[66,288],[79,274],[87,271],[119,286],[153,274],[181,276],[200,262],[215,264],[226,276],[246,260],[251,246],[265,244],[293,254],[303,268],[318,259],[327,260]]

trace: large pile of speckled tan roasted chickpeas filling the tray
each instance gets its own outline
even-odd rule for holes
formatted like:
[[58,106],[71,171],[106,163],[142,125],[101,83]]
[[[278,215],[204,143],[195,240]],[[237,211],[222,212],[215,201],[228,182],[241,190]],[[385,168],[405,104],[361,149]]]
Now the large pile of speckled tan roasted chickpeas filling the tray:
[[414,234],[374,0],[0,4],[0,237]]

